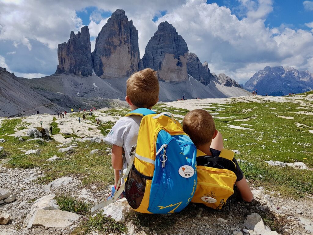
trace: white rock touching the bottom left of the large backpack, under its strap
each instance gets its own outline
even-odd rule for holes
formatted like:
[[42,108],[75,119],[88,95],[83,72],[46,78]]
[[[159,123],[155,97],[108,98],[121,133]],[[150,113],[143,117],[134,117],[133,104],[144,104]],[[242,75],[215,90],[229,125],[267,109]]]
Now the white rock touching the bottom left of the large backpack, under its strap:
[[126,217],[132,212],[131,206],[128,205],[126,198],[111,203],[103,207],[103,214],[111,216],[116,221],[125,222]]

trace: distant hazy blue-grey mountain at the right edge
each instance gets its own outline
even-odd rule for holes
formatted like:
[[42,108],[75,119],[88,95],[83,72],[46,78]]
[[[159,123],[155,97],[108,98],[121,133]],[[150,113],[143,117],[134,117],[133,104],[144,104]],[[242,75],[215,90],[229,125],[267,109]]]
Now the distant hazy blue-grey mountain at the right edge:
[[292,67],[266,66],[255,73],[244,85],[248,91],[258,90],[258,95],[284,96],[313,90],[313,74]]

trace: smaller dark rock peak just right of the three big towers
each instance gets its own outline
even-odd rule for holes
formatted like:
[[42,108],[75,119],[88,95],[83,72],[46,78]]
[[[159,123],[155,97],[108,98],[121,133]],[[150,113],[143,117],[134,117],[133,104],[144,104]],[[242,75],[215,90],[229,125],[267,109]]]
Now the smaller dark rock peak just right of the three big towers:
[[197,81],[200,81],[204,85],[210,83],[211,72],[208,69],[208,62],[203,65],[198,56],[192,52],[188,53],[187,57],[187,72]]

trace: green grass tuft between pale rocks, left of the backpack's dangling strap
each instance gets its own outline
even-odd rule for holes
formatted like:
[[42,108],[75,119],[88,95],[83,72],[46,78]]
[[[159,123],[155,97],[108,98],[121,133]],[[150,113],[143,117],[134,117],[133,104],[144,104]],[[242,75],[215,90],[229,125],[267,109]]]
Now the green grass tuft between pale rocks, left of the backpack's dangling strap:
[[87,215],[90,212],[90,203],[83,199],[71,196],[70,194],[57,194],[54,199],[57,201],[60,210],[73,212],[80,215]]

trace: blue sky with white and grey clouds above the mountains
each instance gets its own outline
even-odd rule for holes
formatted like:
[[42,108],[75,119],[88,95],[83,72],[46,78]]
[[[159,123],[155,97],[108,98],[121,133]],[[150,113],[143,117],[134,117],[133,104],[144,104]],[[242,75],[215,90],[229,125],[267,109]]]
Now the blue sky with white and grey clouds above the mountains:
[[313,72],[313,0],[0,0],[0,66],[27,78],[53,74],[58,44],[88,25],[93,51],[117,8],[138,30],[141,58],[167,20],[189,52],[239,83],[265,66]]

